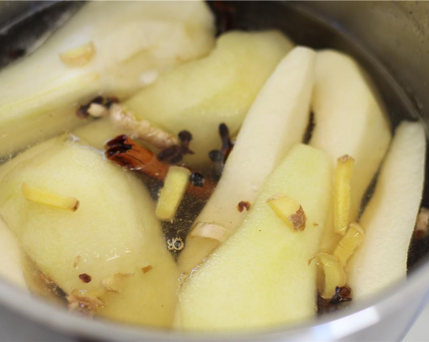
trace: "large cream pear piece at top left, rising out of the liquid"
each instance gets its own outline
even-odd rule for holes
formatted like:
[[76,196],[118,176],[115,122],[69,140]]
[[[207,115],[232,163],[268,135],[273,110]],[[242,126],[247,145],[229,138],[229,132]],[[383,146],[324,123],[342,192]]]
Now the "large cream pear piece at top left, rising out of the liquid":
[[207,54],[213,22],[202,1],[85,4],[36,51],[0,71],[0,155],[82,124],[77,102],[130,96],[148,73]]

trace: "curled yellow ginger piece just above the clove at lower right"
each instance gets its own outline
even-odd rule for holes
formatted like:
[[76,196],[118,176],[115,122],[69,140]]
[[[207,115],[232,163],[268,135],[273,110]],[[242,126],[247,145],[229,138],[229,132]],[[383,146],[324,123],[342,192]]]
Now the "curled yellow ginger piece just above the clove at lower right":
[[317,290],[323,298],[332,298],[335,287],[344,286],[346,282],[343,265],[328,253],[318,253],[313,259],[317,263]]

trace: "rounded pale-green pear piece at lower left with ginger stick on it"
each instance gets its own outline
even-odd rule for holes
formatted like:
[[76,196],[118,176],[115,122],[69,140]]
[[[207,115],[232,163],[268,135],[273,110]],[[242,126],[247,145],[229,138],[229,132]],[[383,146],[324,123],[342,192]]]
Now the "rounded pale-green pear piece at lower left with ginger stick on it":
[[[33,157],[24,156],[31,149],[24,153],[0,182],[1,213],[24,253],[69,296],[72,307],[83,304],[105,317],[169,327],[178,274],[144,185],[69,139],[54,139],[40,150]],[[79,209],[29,201],[22,183],[73,194]],[[103,286],[115,274],[133,274],[118,292]]]

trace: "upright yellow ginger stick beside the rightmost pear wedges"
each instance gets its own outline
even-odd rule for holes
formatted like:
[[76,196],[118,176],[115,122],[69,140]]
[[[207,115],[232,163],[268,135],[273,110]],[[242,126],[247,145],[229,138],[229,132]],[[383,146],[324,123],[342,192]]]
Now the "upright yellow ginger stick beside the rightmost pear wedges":
[[350,179],[353,173],[354,159],[347,154],[339,157],[335,170],[334,229],[341,235],[350,223]]

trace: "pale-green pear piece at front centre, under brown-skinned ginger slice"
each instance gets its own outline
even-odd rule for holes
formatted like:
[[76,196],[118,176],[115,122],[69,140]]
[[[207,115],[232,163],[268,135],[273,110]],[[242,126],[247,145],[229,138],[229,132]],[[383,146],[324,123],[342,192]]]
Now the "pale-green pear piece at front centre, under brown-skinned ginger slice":
[[[176,328],[255,330],[314,317],[316,263],[308,261],[332,210],[332,166],[323,151],[308,145],[290,150],[245,222],[181,287]],[[303,231],[290,229],[266,203],[278,192],[302,206],[311,222]]]

